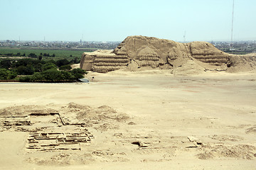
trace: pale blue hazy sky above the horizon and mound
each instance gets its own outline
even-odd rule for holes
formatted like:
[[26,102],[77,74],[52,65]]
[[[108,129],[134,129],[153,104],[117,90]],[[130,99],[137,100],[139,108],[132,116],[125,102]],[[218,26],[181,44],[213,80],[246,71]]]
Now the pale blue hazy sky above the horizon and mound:
[[[0,0],[0,40],[230,40],[233,0]],[[256,40],[256,1],[235,0],[234,40]],[[82,36],[83,35],[83,36]]]

